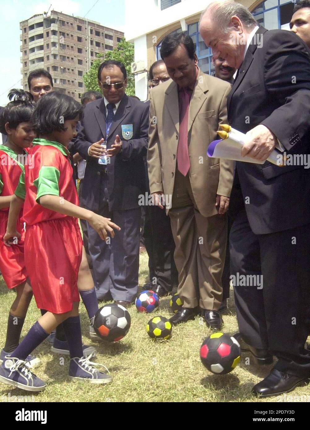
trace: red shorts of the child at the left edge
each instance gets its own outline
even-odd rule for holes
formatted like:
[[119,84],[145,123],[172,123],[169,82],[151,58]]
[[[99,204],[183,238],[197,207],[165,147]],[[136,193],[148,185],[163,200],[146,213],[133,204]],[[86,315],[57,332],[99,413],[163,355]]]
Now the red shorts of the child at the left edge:
[[0,211],[0,270],[8,288],[14,288],[25,282],[27,271],[24,259],[24,223],[21,222],[21,214],[17,221],[17,231],[21,233],[18,244],[6,246],[3,236],[6,233],[9,212]]

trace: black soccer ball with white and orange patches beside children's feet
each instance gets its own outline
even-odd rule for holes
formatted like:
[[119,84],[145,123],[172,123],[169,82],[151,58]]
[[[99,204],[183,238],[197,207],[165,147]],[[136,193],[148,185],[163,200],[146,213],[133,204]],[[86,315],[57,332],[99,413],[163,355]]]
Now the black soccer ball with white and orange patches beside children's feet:
[[97,310],[94,329],[101,339],[117,342],[129,331],[131,318],[128,310],[117,303],[105,304]]

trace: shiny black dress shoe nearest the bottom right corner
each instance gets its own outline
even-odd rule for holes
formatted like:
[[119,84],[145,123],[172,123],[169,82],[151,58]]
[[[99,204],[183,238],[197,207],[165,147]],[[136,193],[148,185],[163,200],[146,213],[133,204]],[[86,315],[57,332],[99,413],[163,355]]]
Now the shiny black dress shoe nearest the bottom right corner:
[[260,397],[276,396],[277,394],[289,393],[294,388],[309,383],[309,378],[304,376],[293,376],[288,373],[272,369],[270,374],[253,388],[252,393]]

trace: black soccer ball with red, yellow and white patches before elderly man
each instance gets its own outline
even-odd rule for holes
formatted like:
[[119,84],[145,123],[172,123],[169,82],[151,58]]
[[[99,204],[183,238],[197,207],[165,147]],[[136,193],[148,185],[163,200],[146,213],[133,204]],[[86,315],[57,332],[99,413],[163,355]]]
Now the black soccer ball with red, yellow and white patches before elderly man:
[[240,345],[233,336],[216,332],[200,347],[203,365],[216,375],[231,372],[240,361]]

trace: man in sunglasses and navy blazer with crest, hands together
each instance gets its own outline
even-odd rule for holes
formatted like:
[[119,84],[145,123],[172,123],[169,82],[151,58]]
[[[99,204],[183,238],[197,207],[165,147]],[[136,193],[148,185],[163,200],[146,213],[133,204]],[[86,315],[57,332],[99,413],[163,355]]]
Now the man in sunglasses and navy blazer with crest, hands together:
[[121,227],[102,241],[88,225],[97,298],[127,306],[138,289],[141,207],[146,191],[149,105],[125,94],[126,68],[104,61],[98,69],[104,98],[87,104],[74,149],[87,160],[81,203]]

